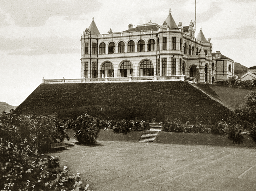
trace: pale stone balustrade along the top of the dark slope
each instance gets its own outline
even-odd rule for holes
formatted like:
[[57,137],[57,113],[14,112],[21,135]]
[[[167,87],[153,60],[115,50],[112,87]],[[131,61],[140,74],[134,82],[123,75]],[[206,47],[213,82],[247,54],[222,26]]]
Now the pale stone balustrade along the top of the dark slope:
[[44,79],[42,83],[102,83],[102,82],[145,82],[145,81],[188,81],[196,83],[194,77],[185,75],[175,76],[129,76],[129,77],[100,77],[100,78],[81,78],[81,79]]

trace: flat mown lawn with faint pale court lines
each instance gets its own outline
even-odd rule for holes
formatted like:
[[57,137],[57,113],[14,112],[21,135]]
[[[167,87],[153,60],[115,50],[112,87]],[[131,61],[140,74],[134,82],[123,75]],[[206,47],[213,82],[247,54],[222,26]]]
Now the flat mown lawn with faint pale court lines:
[[[71,139],[70,141],[74,141]],[[256,150],[246,147],[98,141],[59,153],[94,191],[256,190]]]

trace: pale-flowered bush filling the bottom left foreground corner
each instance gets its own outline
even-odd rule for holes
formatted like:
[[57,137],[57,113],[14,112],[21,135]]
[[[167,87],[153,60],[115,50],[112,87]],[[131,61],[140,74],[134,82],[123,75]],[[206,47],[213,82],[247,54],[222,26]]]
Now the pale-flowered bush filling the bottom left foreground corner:
[[0,140],[0,190],[84,190],[79,174],[70,175],[56,157],[37,154],[25,139],[19,144]]

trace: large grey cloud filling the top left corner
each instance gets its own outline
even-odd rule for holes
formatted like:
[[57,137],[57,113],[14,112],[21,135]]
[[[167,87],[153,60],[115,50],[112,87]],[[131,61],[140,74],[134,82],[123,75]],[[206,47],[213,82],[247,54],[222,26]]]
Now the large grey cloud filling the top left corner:
[[79,20],[82,15],[101,7],[97,0],[3,0],[0,7],[9,14],[19,27],[39,27],[52,16],[65,16]]

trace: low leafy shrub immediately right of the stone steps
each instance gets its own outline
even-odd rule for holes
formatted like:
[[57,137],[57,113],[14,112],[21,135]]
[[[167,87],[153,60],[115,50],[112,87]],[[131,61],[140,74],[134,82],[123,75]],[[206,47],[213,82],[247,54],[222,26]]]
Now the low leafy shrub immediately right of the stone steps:
[[179,132],[184,132],[185,126],[179,120],[176,120],[176,119],[175,120],[170,120],[169,118],[167,118],[163,122],[162,129],[163,129],[163,131],[166,131],[166,132],[179,133]]

